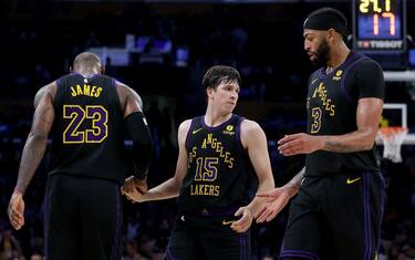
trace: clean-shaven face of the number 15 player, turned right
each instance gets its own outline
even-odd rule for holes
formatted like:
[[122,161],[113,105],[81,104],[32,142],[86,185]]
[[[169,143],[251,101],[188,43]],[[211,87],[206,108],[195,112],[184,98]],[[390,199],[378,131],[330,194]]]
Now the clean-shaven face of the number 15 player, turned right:
[[222,82],[216,90],[209,89],[208,95],[214,105],[224,113],[231,113],[237,105],[240,87],[237,82]]

